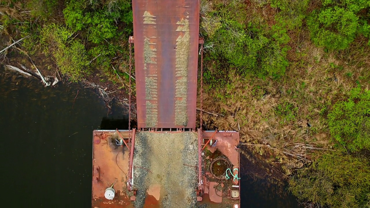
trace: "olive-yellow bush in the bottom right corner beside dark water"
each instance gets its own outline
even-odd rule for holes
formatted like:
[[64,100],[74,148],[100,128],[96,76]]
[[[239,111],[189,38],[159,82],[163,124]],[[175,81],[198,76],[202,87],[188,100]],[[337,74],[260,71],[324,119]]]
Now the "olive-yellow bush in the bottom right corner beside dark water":
[[289,189],[300,200],[336,208],[369,207],[370,164],[367,158],[325,154],[299,169]]

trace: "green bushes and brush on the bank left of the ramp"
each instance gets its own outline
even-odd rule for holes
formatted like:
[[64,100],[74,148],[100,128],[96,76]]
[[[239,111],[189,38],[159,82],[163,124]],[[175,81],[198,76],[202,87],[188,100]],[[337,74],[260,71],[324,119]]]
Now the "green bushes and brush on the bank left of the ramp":
[[128,78],[124,71],[132,35],[131,1],[9,0],[2,5],[9,11],[1,16],[3,31],[13,38],[31,35],[23,51],[52,55],[71,81],[80,81],[95,68],[102,72],[95,75],[113,83],[122,81],[121,76]]

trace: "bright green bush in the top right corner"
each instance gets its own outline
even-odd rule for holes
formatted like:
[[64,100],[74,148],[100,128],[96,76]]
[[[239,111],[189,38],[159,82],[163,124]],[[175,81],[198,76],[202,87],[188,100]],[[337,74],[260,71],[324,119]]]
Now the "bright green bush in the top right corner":
[[[324,0],[324,8],[307,19],[311,38],[320,47],[345,49],[359,34],[369,37],[369,0]],[[369,41],[370,44],[370,41]]]

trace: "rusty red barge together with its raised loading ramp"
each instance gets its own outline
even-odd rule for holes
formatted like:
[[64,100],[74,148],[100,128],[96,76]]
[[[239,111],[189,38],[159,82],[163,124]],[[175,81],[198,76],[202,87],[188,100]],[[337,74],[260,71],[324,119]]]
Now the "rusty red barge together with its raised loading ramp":
[[239,133],[195,127],[199,4],[132,1],[138,128],[94,130],[92,208],[240,207]]

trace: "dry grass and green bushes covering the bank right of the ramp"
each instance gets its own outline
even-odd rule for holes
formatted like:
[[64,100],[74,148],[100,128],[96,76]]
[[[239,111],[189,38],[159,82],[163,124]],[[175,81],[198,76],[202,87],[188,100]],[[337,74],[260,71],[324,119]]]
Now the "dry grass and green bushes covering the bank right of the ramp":
[[203,106],[225,115],[203,121],[282,163],[312,207],[370,205],[369,2],[202,1]]

